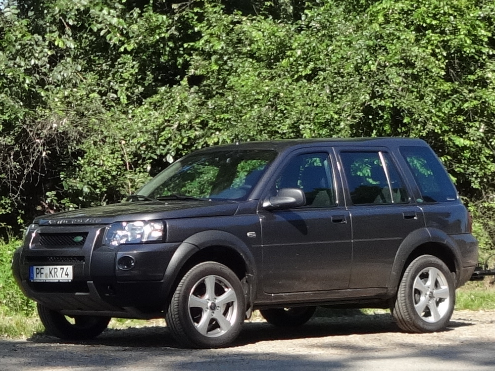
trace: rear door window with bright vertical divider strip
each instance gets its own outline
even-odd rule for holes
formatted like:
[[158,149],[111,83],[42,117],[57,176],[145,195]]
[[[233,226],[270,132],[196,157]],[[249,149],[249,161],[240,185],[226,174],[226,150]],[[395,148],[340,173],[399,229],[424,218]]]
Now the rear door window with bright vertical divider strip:
[[386,152],[341,152],[354,205],[409,202],[407,190]]

